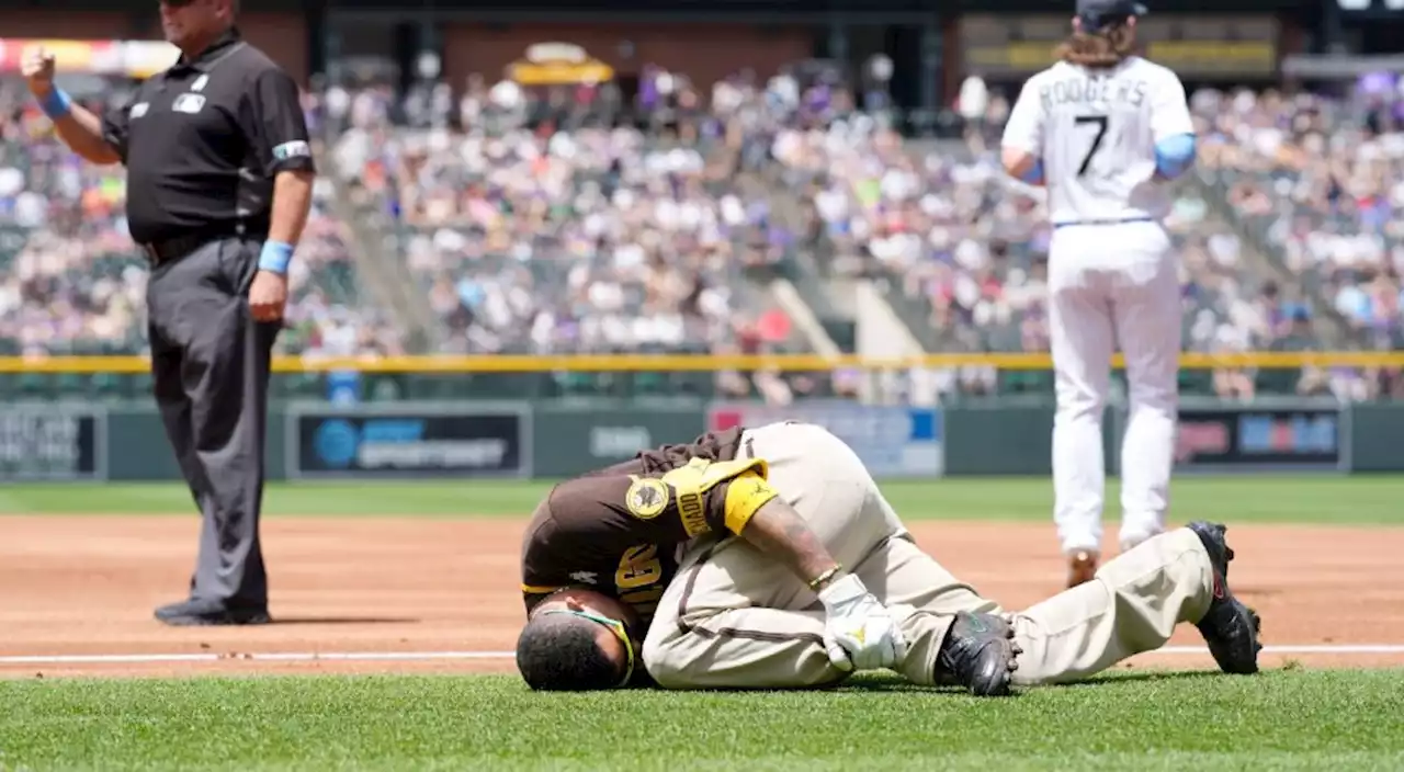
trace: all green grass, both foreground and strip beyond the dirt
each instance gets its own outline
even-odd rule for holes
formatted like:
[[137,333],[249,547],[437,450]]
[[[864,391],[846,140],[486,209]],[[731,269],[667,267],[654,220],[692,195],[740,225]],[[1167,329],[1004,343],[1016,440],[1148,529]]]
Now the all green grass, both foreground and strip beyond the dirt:
[[[277,484],[268,511],[522,517],[548,484]],[[910,519],[1049,517],[1046,479],[885,490]],[[1404,525],[1400,501],[1401,477],[1181,477],[1174,490],[1177,519],[1230,524]],[[191,504],[173,484],[10,486],[0,512],[191,514]],[[1404,670],[1290,665],[1252,678],[1123,671],[1008,700],[883,679],[806,693],[602,695],[538,695],[500,675],[15,679],[0,681],[0,772],[1404,769],[1401,716]]]

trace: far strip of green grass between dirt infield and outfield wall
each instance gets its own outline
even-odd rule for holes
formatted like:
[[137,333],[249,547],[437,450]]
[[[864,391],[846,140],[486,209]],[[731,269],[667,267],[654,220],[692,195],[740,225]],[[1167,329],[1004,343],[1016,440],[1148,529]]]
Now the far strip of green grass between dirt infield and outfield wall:
[[[265,511],[278,515],[525,517],[548,481],[275,483]],[[1046,477],[893,480],[889,500],[907,519],[1043,521]],[[1108,488],[1116,508],[1116,483]],[[1404,525],[1404,477],[1179,477],[1174,511],[1186,519]],[[0,488],[0,514],[192,514],[173,483],[15,484]]]

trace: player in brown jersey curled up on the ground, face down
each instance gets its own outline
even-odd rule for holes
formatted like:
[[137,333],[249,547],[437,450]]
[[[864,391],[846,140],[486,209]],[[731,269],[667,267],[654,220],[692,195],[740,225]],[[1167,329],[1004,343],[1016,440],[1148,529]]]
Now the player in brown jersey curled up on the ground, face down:
[[556,486],[522,543],[534,689],[806,688],[889,668],[1005,695],[1163,646],[1193,622],[1258,670],[1221,525],[1147,539],[1007,613],[921,552],[851,448],[799,422],[706,434]]

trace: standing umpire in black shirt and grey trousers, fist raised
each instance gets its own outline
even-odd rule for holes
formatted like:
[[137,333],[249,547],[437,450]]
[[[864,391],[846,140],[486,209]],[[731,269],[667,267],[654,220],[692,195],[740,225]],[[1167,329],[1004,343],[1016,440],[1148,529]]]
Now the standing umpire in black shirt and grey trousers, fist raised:
[[55,86],[52,55],[22,63],[63,142],[128,168],[128,227],[150,261],[156,401],[204,519],[188,599],[156,609],[167,625],[268,622],[258,517],[270,358],[314,168],[298,87],[243,41],[237,6],[161,0],[180,59],[101,117]]

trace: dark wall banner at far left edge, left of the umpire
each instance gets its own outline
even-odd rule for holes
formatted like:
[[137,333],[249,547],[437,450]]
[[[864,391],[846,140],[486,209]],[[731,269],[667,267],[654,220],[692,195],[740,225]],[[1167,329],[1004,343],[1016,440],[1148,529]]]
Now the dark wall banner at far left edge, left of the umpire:
[[107,480],[107,411],[91,404],[0,407],[0,480]]

